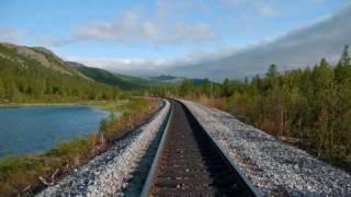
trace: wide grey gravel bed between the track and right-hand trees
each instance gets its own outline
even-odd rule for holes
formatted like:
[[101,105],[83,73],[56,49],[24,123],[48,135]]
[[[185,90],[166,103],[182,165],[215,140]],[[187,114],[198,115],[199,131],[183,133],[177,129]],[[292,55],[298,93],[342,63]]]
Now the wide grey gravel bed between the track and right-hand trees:
[[351,196],[351,175],[234,116],[182,101],[222,150],[267,196]]

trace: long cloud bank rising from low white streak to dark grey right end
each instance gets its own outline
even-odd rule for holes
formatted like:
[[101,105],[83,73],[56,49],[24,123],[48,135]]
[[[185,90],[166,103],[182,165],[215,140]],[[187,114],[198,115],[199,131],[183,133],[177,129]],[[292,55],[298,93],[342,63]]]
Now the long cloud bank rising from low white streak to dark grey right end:
[[214,80],[244,79],[264,73],[271,63],[281,70],[314,66],[322,57],[336,62],[346,44],[351,44],[351,7],[274,40],[240,50],[190,54],[172,60],[121,60],[72,58],[112,71],[157,76],[176,74]]

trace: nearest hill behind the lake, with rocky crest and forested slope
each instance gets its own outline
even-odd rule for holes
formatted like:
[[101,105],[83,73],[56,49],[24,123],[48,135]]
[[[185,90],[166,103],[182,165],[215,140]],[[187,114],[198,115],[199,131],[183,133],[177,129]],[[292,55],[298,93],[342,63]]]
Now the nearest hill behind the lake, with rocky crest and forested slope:
[[97,83],[48,49],[0,43],[0,102],[106,100],[121,91]]

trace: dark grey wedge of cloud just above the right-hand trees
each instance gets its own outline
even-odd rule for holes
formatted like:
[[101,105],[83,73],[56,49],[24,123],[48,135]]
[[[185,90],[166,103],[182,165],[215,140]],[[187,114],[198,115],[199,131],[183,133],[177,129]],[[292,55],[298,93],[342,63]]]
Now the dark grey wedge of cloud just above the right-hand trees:
[[314,25],[288,33],[268,44],[242,49],[224,58],[172,68],[172,72],[189,77],[242,79],[265,72],[276,63],[282,70],[314,66],[322,57],[336,62],[344,45],[351,44],[351,7],[320,20]]

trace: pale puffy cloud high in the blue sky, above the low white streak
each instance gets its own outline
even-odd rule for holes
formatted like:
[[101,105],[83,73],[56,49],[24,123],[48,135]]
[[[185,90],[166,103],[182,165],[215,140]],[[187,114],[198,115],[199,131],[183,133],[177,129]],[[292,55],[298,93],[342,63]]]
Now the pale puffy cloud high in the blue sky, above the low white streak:
[[110,22],[94,22],[72,30],[76,39],[122,43],[202,43],[218,38],[207,24],[145,20],[139,13],[128,11]]

